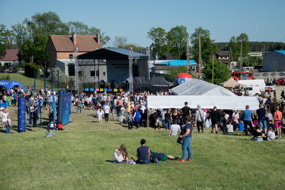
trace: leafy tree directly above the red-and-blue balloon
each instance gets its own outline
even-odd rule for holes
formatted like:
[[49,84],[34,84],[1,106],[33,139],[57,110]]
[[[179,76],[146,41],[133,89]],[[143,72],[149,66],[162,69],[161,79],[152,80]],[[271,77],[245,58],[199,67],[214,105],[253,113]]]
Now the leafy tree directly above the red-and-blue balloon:
[[181,56],[186,51],[187,35],[187,28],[182,25],[173,27],[167,32],[167,44],[174,59],[181,59]]

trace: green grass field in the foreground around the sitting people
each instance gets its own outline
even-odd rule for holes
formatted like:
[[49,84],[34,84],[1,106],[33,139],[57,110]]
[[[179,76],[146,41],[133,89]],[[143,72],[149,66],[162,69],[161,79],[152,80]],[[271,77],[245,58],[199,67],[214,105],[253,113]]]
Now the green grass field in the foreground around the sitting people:
[[[17,110],[9,107],[12,125]],[[98,123],[94,111],[73,114],[72,123],[56,137],[35,132],[5,134],[0,130],[0,189],[283,189],[285,137],[252,142],[242,133],[233,136],[194,130],[191,162],[113,164],[113,151],[125,144],[135,157],[140,139],[155,152],[181,158],[178,136],[139,128],[129,131],[116,121]],[[42,114],[47,125],[47,110]],[[96,122],[94,122],[96,121]],[[39,126],[39,125],[38,125]]]

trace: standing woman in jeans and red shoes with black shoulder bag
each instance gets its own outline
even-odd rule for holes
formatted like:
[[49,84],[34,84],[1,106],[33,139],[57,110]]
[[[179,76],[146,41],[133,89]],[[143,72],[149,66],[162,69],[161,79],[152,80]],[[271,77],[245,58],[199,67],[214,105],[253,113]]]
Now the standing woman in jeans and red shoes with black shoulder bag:
[[181,160],[177,161],[177,162],[185,162],[186,159],[186,155],[187,155],[187,150],[188,150],[188,159],[187,161],[192,161],[192,150],[191,150],[191,139],[192,139],[192,131],[193,131],[193,126],[191,123],[191,117],[190,116],[186,116],[185,117],[185,121],[186,121],[186,125],[184,125],[181,128],[181,133],[179,138],[181,137],[186,137],[184,140],[184,143],[182,144],[182,151],[183,151],[183,156],[181,158]]

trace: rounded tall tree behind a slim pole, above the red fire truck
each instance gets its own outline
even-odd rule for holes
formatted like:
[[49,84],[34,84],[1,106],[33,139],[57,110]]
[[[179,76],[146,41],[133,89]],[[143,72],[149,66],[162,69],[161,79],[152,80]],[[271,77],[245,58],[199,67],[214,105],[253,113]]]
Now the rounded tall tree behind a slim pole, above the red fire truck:
[[229,40],[229,46],[232,48],[232,57],[235,61],[240,63],[240,43],[243,38],[243,57],[248,54],[248,35],[241,33],[239,36],[232,36]]

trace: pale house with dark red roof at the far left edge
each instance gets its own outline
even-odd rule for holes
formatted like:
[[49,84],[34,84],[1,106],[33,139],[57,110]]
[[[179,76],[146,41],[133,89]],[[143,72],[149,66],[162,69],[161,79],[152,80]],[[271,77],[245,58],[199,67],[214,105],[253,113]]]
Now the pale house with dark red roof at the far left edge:
[[19,61],[22,61],[19,49],[6,49],[6,55],[2,58],[0,57],[2,66],[7,63],[9,67],[15,68]]

